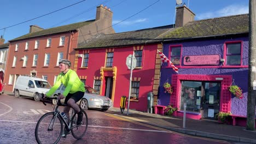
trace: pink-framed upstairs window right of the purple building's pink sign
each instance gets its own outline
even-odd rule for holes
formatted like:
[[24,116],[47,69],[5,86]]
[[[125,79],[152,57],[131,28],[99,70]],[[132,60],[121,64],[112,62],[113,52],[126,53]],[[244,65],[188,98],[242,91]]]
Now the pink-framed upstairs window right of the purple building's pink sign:
[[241,42],[225,43],[226,65],[241,65]]

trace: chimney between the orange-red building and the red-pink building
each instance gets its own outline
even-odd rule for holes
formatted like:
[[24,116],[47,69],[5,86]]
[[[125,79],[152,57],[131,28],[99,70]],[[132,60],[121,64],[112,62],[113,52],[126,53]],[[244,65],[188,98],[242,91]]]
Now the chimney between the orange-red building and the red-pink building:
[[103,7],[103,4],[97,7],[96,21],[101,19],[109,19],[112,21],[113,13],[107,6]]

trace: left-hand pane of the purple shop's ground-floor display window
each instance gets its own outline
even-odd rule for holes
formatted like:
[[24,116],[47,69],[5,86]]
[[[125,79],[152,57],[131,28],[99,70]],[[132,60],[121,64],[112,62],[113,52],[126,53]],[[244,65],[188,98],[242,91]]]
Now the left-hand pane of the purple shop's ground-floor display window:
[[200,112],[202,82],[182,81],[181,110],[187,103],[187,111]]

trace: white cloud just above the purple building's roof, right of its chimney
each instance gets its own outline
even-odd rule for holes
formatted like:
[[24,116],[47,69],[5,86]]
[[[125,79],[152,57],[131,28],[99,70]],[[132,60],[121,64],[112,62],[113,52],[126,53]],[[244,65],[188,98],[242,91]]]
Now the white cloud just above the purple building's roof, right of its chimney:
[[248,6],[232,4],[232,5],[229,5],[228,7],[224,7],[217,11],[211,11],[211,12],[207,12],[207,13],[203,13],[203,14],[198,14],[198,15],[196,15],[196,19],[202,20],[202,19],[210,19],[213,17],[222,17],[222,16],[248,14],[248,13],[249,13]]

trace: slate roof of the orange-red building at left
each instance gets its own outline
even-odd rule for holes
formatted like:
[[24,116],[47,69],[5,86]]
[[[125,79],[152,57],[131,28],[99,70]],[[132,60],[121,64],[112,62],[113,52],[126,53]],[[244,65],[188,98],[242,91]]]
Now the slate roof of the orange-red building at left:
[[89,20],[89,21],[72,23],[70,25],[65,25],[65,26],[59,26],[59,27],[53,27],[53,28],[49,28],[49,29],[44,29],[42,31],[38,31],[38,32],[28,33],[28,34],[22,35],[21,37],[18,37],[18,38],[9,40],[9,41],[21,40],[21,39],[27,39],[27,38],[34,38],[34,37],[40,37],[40,36],[43,36],[43,35],[49,35],[49,34],[56,34],[56,33],[73,31],[75,29],[78,29],[79,27],[83,27],[85,25],[89,25],[89,23],[92,23],[94,21],[95,20]]

